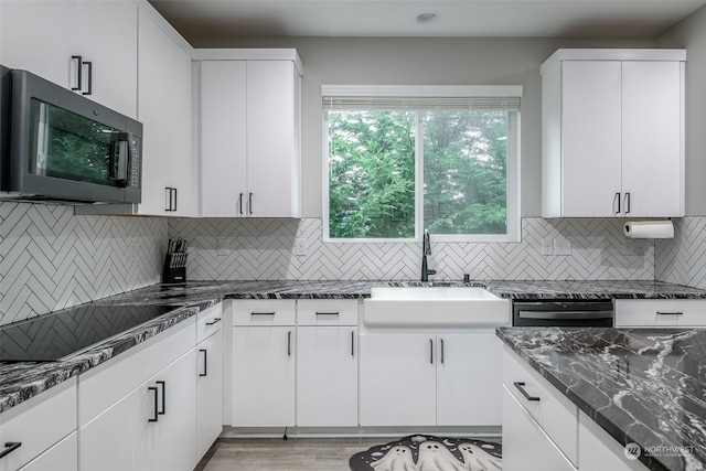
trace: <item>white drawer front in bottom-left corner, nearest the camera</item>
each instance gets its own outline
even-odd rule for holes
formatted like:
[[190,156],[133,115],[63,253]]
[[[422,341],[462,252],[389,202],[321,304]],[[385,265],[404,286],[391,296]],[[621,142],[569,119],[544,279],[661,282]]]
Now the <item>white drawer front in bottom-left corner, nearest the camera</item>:
[[0,469],[23,467],[76,430],[76,377],[3,413],[0,424],[2,449],[7,442],[22,443],[2,458]]

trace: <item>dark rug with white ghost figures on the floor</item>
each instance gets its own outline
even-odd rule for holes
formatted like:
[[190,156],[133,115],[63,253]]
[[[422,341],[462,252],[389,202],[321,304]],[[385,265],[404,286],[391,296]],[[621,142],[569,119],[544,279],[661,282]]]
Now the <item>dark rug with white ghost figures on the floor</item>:
[[352,471],[500,471],[502,445],[411,435],[351,457]]

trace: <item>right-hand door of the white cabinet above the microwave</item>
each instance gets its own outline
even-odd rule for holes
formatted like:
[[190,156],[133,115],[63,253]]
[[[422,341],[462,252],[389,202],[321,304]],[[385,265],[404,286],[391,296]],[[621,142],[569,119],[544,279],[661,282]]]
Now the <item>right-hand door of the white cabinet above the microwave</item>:
[[135,118],[137,7],[132,2],[116,0],[82,1],[79,4],[81,36],[74,54],[92,62],[92,94],[88,98]]

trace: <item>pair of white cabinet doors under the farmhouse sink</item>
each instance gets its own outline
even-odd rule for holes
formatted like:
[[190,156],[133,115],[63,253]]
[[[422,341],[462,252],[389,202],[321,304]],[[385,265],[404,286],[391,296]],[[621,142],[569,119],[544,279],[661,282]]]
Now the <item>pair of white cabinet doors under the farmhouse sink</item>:
[[477,333],[363,334],[362,426],[499,426],[502,344]]

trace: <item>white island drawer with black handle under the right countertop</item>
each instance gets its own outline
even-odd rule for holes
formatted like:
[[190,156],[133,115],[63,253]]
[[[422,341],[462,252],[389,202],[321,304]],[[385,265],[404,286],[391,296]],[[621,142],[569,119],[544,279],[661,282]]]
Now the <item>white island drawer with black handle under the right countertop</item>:
[[[506,345],[503,353],[503,383],[507,390],[536,420],[556,446],[576,465],[578,463],[578,408],[539,373],[524,364]],[[539,400],[528,400],[515,383]]]

